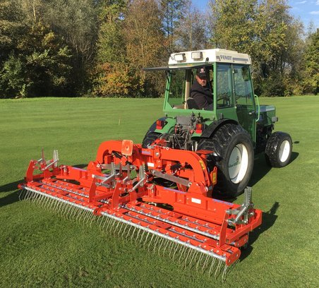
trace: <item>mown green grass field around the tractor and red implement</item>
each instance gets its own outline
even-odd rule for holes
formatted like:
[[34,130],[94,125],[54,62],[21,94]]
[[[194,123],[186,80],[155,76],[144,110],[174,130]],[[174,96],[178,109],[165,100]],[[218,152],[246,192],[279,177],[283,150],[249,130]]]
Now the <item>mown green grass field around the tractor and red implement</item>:
[[17,185],[42,148],[47,157],[59,149],[60,163],[73,165],[94,160],[104,140],[140,143],[162,116],[162,100],[1,100],[0,287],[319,287],[319,97],[260,103],[277,107],[275,130],[291,134],[292,162],[268,169],[263,155],[255,160],[263,225],[222,282],[18,200]]

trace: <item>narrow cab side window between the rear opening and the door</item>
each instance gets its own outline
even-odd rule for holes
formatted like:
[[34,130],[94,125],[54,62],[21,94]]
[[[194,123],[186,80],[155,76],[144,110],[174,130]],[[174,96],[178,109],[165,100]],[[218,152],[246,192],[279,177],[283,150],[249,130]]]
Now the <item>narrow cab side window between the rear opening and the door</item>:
[[231,64],[217,66],[217,109],[233,107]]

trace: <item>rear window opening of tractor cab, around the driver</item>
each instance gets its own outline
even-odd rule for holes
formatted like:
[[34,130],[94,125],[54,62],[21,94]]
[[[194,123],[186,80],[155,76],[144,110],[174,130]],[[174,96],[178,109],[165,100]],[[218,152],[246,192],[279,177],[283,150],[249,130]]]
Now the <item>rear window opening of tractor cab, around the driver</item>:
[[[167,86],[167,99],[169,105],[174,109],[201,109],[192,98],[192,89],[198,85],[196,75],[198,68],[184,70],[172,70],[167,74],[169,85]],[[206,76],[206,97],[212,102],[212,66],[205,66]],[[203,77],[202,77],[203,78]],[[192,102],[194,102],[192,104]],[[203,108],[202,108],[203,109]]]

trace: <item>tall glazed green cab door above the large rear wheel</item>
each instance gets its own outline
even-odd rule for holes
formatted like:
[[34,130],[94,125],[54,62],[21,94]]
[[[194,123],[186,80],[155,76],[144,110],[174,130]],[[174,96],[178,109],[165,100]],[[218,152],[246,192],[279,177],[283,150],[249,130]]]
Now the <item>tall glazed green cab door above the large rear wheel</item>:
[[233,95],[239,124],[251,134],[251,139],[255,145],[256,109],[249,66],[233,64],[232,74]]

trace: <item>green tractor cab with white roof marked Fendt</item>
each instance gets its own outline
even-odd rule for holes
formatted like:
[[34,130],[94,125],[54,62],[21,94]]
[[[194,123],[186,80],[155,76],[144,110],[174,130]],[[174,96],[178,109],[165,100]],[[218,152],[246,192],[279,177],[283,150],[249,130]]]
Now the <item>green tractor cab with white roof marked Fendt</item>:
[[[186,116],[193,112],[203,117],[206,126],[214,121],[231,119],[243,126],[255,143],[259,109],[255,105],[250,66],[248,54],[207,49],[171,54],[168,66],[146,70],[166,71],[164,113],[168,117]],[[206,87],[212,97],[212,105],[202,109],[191,95],[198,68],[205,69]]]

